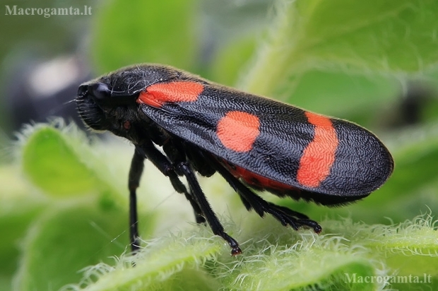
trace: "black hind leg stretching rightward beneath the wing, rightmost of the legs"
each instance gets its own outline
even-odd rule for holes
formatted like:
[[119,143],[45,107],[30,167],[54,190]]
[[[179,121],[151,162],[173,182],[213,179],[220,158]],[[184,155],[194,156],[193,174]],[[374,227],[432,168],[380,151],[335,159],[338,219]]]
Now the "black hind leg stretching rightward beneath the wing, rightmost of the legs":
[[214,164],[219,174],[221,174],[228,184],[230,184],[230,186],[237,191],[237,194],[239,194],[242,201],[247,202],[244,203],[245,206],[249,204],[251,208],[253,208],[254,211],[256,211],[256,213],[261,217],[264,216],[264,213],[269,213],[278,221],[280,221],[282,225],[290,225],[295,230],[302,227],[302,225],[307,225],[312,227],[314,232],[321,232],[321,226],[314,220],[309,220],[307,215],[265,201],[260,196],[254,194],[254,192],[251,191],[247,186],[242,184],[242,182],[228,172],[225,167],[220,165],[218,162],[215,162]]

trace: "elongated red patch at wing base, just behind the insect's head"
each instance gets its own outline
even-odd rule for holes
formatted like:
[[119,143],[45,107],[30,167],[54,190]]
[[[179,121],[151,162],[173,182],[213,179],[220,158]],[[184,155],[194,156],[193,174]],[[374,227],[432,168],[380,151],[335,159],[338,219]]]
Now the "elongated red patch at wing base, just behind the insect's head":
[[202,91],[203,85],[196,82],[156,83],[140,93],[137,103],[161,107],[166,102],[194,102]]

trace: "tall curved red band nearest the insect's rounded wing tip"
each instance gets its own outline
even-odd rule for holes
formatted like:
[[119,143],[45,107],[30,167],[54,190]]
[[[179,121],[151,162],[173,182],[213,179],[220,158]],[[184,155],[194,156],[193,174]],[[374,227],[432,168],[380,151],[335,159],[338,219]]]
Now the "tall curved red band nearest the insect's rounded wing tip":
[[303,186],[317,187],[330,174],[335,161],[338,136],[329,117],[306,112],[307,119],[315,126],[314,138],[304,148],[297,172],[297,181]]

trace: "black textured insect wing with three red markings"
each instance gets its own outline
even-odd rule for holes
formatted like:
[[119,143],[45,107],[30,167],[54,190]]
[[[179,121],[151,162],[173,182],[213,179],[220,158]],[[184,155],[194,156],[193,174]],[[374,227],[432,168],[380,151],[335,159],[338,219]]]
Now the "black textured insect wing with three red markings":
[[393,170],[366,129],[204,81],[158,83],[138,97],[170,133],[244,170],[298,189],[363,196]]

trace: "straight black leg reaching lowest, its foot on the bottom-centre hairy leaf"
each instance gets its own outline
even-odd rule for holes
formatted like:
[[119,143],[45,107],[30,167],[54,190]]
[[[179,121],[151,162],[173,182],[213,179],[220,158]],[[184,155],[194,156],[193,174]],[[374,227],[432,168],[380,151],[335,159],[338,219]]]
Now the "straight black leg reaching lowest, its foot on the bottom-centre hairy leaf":
[[194,198],[199,203],[199,206],[201,207],[201,210],[205,215],[208,225],[210,225],[211,230],[213,230],[213,233],[220,237],[223,237],[223,239],[225,239],[225,241],[230,244],[232,256],[242,254],[242,250],[239,248],[239,244],[237,243],[237,241],[225,232],[223,226],[220,224],[218,218],[213,212],[213,209],[211,209],[210,204],[208,204],[206,196],[203,194],[201,186],[199,186],[199,182],[196,179],[196,176],[189,164],[187,162],[179,162],[176,167],[177,170],[181,171],[182,174],[184,174],[184,176],[186,177],[191,189],[191,193],[194,195]]

